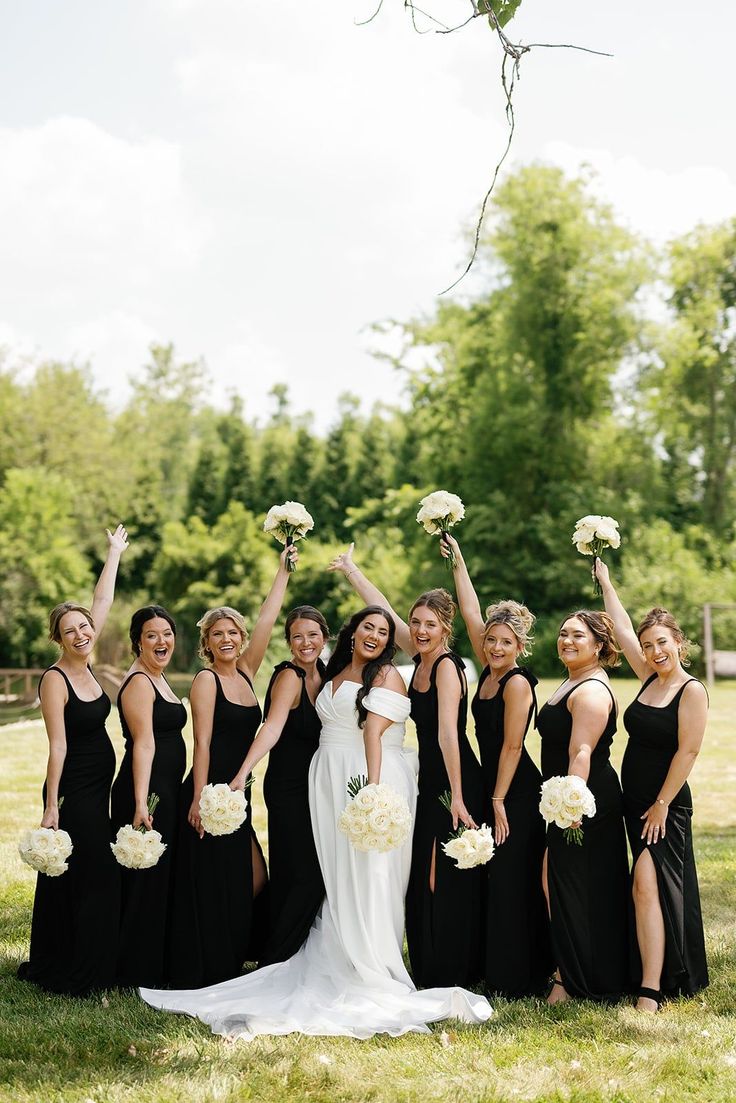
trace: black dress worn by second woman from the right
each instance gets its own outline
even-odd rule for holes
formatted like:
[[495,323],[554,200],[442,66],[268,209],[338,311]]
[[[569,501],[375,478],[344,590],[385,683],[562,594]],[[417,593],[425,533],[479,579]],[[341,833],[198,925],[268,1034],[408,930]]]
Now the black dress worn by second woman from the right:
[[[583,821],[583,844],[567,843],[555,824],[547,828],[547,882],[552,950],[570,996],[611,1002],[630,987],[628,951],[629,867],[621,786],[610,763],[616,733],[616,702],[611,697],[608,722],[590,756],[588,789],[596,799],[596,814]],[[566,775],[573,717],[567,710],[578,682],[554,705],[540,709],[542,774],[545,781]]]

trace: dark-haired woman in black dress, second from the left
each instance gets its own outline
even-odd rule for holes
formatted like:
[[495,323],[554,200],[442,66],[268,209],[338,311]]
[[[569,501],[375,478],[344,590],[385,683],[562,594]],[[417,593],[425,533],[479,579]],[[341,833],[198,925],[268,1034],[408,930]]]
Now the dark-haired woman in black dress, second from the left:
[[[161,606],[136,610],[130,620],[136,660],[118,692],[125,754],[113,785],[113,832],[130,823],[156,827],[167,844],[151,869],[122,869],[117,964],[121,987],[156,986],[164,978],[177,813],[186,764],[186,709],[164,675],[175,634],[173,618]],[[159,797],[153,816],[148,812],[152,793]]]

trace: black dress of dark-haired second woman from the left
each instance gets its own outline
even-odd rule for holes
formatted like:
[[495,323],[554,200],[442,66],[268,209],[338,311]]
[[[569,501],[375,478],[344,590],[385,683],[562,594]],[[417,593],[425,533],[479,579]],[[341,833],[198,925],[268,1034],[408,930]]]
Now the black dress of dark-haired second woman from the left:
[[[132,782],[132,737],[122,711],[126,686],[132,678],[148,675],[134,671],[118,692],[118,713],[125,737],[125,756],[113,785],[113,834],[132,823],[136,794]],[[149,794],[156,793],[159,804],[153,813],[153,827],[161,833],[167,848],[151,869],[121,870],[122,899],[120,909],[120,943],[117,983],[120,987],[157,987],[166,977],[166,946],[171,915],[171,874],[177,849],[179,794],[186,765],[186,749],[182,729],[186,709],[180,702],[167,700],[153,685],[153,741]]]

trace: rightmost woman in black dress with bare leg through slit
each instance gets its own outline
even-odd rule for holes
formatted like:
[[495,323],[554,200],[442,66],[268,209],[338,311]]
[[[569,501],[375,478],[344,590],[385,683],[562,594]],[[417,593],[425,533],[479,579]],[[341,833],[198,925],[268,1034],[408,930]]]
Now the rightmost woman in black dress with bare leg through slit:
[[621,783],[633,856],[637,1009],[655,1011],[663,995],[692,996],[708,983],[687,784],[705,733],[707,693],[684,670],[687,640],[674,617],[652,609],[634,633],[600,559],[595,574],[623,654],[643,683],[623,714]]

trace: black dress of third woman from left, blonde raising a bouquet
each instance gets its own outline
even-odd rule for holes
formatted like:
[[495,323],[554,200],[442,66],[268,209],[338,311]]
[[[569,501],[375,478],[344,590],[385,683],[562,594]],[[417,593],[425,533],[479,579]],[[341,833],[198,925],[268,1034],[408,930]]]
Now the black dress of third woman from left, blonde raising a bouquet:
[[[257,702],[239,705],[230,700],[215,671],[200,671],[196,677],[206,673],[213,675],[216,685],[207,783],[230,784],[260,725],[260,706]],[[253,689],[248,676],[243,671],[237,673]],[[168,968],[172,988],[202,988],[230,981],[241,975],[246,961],[256,957],[250,791],[245,793],[247,816],[237,831],[231,835],[205,833],[203,838],[188,820],[193,796],[194,775],[190,770],[181,790],[172,893]]]

